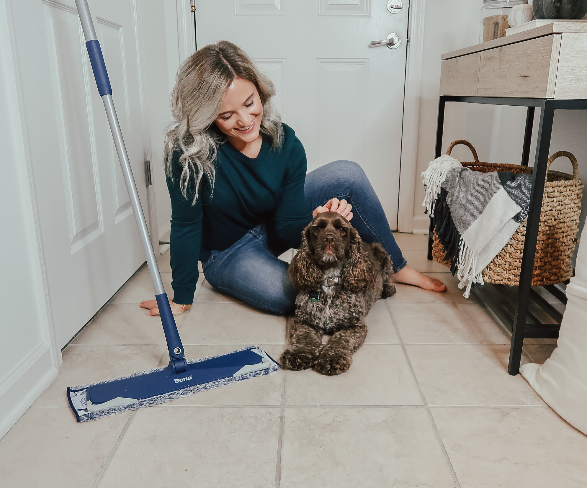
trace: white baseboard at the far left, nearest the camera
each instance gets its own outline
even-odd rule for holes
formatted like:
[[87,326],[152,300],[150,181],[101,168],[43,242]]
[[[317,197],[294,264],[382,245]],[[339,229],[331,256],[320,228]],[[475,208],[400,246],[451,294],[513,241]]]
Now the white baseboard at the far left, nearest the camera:
[[49,344],[43,342],[0,382],[0,439],[56,376]]

